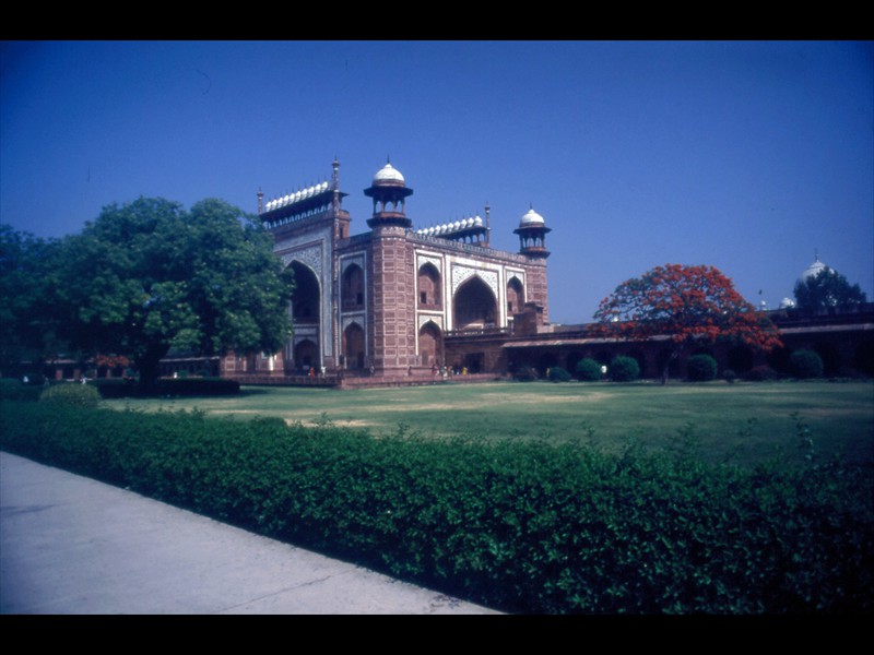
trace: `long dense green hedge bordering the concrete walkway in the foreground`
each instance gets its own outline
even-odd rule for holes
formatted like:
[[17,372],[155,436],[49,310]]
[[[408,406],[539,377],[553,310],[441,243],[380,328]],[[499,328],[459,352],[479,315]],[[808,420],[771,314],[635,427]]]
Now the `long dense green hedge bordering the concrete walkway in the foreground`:
[[870,612],[871,476],[0,403],[0,446],[498,609]]

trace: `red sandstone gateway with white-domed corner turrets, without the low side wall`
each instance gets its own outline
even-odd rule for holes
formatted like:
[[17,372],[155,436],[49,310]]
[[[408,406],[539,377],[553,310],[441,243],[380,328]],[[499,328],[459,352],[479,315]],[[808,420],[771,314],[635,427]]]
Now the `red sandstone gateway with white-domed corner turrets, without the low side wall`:
[[524,311],[546,320],[550,230],[543,218],[533,209],[523,216],[518,253],[489,246],[487,206],[485,221],[416,230],[405,211],[413,190],[387,164],[365,190],[374,202],[369,229],[351,236],[339,169],[335,160],[330,182],[267,203],[259,194],[274,250],[295,272],[294,336],[282,353],[229,356],[223,372],[279,381],[309,377],[311,369],[316,377],[379,383],[428,379],[463,361],[480,372],[499,371],[499,347],[475,357],[462,344],[473,336],[506,338]]

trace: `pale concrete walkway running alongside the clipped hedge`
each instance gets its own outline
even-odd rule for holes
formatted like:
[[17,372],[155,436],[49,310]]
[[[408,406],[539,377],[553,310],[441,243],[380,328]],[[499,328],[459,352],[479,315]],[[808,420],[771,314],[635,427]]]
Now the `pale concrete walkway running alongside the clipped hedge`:
[[0,614],[497,614],[0,453]]

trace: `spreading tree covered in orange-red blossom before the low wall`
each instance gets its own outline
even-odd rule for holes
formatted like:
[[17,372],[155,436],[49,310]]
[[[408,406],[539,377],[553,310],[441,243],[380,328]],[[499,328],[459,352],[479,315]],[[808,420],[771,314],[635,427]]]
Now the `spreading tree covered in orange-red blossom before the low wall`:
[[616,287],[601,301],[594,319],[607,337],[670,338],[673,348],[662,370],[663,384],[671,361],[690,347],[722,341],[763,350],[782,345],[770,319],[713,266],[657,266]]

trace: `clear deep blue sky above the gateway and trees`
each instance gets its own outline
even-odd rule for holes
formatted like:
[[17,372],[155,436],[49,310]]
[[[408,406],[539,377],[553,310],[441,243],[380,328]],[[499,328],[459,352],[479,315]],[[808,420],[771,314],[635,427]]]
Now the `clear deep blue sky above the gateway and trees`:
[[552,233],[551,319],[710,264],[775,308],[814,253],[874,299],[871,41],[3,41],[0,222],[78,233],[140,195],[267,199],[388,157],[415,227]]

